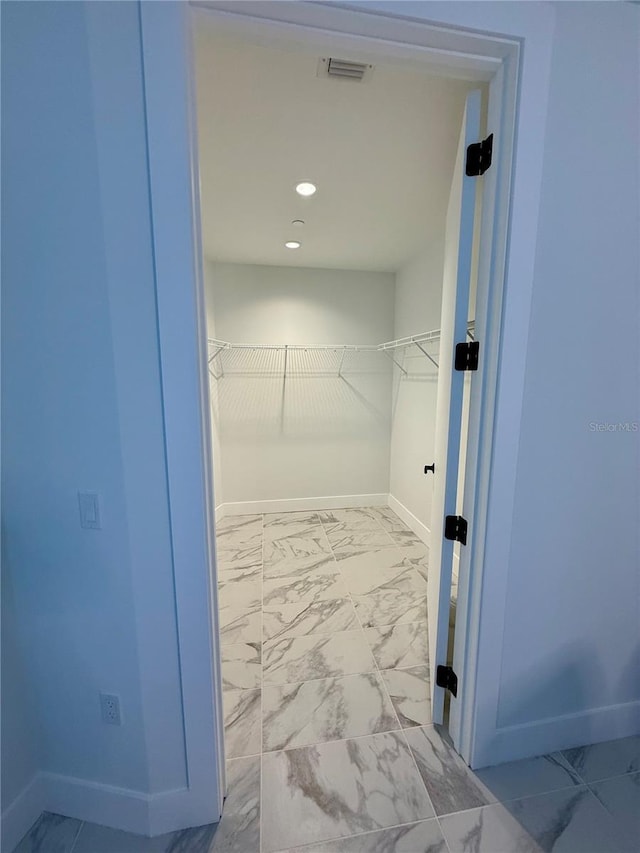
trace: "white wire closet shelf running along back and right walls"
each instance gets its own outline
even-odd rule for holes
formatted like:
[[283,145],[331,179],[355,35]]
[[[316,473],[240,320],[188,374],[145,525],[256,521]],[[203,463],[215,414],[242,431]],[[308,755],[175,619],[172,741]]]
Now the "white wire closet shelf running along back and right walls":
[[[474,323],[467,327],[473,340]],[[407,370],[394,357],[397,352],[416,348],[435,367],[438,362],[428,347],[440,340],[440,330],[421,332],[382,344],[235,344],[216,338],[208,339],[209,372],[215,379],[225,375],[325,375],[341,376],[347,362],[355,354],[386,356],[404,375]]]

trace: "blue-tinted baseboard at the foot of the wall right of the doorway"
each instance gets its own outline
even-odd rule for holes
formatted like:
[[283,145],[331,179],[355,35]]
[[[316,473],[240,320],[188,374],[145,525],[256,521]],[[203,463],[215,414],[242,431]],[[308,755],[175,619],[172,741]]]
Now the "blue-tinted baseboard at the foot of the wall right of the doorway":
[[497,729],[490,742],[477,745],[472,766],[478,769],[637,734],[640,702],[609,705]]

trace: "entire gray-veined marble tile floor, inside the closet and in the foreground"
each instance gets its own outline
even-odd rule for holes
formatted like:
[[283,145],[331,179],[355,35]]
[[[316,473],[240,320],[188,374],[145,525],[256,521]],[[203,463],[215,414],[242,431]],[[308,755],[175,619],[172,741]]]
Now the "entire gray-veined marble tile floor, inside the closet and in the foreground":
[[15,853],[640,851],[640,737],[474,773],[431,724],[428,552],[389,508],[225,518],[218,546],[222,820],[45,814]]

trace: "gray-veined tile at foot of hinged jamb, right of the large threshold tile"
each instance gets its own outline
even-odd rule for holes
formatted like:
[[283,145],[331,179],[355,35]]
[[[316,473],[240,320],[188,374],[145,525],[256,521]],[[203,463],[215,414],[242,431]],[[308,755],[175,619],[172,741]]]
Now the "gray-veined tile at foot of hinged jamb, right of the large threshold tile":
[[406,729],[405,735],[436,814],[449,814],[495,802],[491,791],[433,726]]

